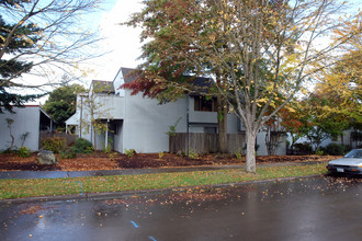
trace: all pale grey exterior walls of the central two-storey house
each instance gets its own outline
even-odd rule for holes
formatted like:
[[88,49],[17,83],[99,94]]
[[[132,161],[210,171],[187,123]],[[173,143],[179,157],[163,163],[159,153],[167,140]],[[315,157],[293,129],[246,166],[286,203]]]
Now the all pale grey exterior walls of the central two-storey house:
[[[129,80],[128,80],[129,81]],[[176,133],[186,133],[186,110],[189,103],[189,131],[205,133],[205,127],[217,127],[216,112],[194,111],[194,97],[181,97],[176,102],[159,105],[157,100],[143,97],[143,94],[132,95],[129,90],[118,90],[125,82],[122,69],[113,80],[115,94],[100,94],[98,100],[103,105],[103,114],[100,118],[112,118],[117,120],[117,134],[113,135],[113,147],[120,152],[125,149],[135,149],[137,152],[169,151],[169,136],[167,133],[170,126],[176,126]],[[78,99],[80,103],[80,99]],[[87,108],[83,107],[82,118],[89,118]],[[80,119],[80,105],[77,113],[70,120]],[[92,134],[86,133],[82,127],[81,137],[91,140]],[[78,128],[79,130],[79,128]],[[228,114],[227,133],[240,134],[240,120],[236,115]],[[259,154],[265,154],[264,134],[258,139],[261,146]],[[104,134],[97,135],[98,149],[104,147]],[[285,146],[285,144],[284,144]],[[284,152],[283,152],[284,151]],[[285,154],[285,148],[280,148],[281,154]]]

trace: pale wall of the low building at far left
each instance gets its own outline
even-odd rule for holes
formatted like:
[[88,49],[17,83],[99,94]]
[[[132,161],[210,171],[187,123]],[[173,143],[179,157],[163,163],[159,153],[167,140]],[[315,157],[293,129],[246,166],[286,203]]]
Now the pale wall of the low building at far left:
[[0,150],[8,149],[11,144],[10,133],[8,128],[7,118],[12,118],[12,134],[15,138],[14,149],[21,147],[21,136],[29,133],[24,146],[30,148],[32,151],[38,150],[39,141],[39,106],[26,106],[24,108],[14,107],[15,114],[4,112],[0,114]]

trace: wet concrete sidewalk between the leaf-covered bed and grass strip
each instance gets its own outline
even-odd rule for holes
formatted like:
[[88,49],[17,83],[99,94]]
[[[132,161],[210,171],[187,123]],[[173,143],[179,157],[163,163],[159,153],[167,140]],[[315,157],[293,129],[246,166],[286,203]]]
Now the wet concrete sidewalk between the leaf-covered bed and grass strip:
[[[285,167],[285,165],[304,165],[316,164],[317,161],[308,162],[281,162],[258,164],[262,167]],[[172,173],[172,172],[192,172],[192,171],[213,171],[225,169],[245,169],[245,164],[233,165],[207,165],[207,167],[189,167],[189,168],[162,168],[162,169],[125,169],[125,170],[102,170],[102,171],[9,171],[0,172],[0,180],[3,179],[61,179],[61,177],[79,177],[79,176],[103,176],[103,175],[138,175],[149,173]]]

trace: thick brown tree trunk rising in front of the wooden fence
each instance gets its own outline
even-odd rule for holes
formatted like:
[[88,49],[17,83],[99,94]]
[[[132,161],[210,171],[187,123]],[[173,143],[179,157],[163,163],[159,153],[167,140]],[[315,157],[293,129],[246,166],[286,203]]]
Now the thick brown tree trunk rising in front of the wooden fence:
[[218,125],[218,152],[227,153],[227,101],[223,96],[217,97],[217,125]]

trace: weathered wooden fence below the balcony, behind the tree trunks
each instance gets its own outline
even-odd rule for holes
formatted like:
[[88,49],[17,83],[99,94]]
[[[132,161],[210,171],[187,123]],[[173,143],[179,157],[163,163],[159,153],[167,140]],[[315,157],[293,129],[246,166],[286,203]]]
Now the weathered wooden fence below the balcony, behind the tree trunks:
[[[178,151],[186,152],[188,134],[178,133],[170,137],[169,149],[171,153]],[[245,134],[227,134],[227,149],[229,153],[235,153],[244,147]],[[189,150],[197,153],[217,152],[217,134],[190,133],[189,134]]]

